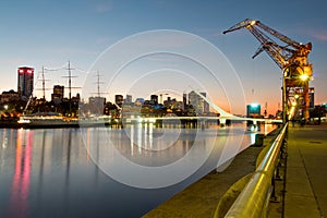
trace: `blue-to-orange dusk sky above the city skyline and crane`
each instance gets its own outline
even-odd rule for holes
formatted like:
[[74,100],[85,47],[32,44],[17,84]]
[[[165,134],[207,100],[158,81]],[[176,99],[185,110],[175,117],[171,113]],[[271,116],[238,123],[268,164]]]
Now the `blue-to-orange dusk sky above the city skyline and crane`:
[[[314,70],[311,86],[315,87],[315,102],[323,104],[327,102],[326,11],[324,0],[2,1],[0,92],[17,89],[16,69],[21,65],[35,68],[36,96],[41,96],[41,82],[37,78],[43,66],[48,69],[47,88],[55,84],[66,86],[63,76],[68,75],[70,61],[76,76],[72,78],[74,92],[88,86],[88,93],[92,88],[96,93],[97,78],[90,72],[98,71],[101,84],[105,83],[101,93],[109,100],[114,94],[132,94],[133,99],[167,92],[181,96],[195,85],[233,113],[244,113],[244,104],[258,102],[262,107],[267,105],[268,113],[274,114],[281,101],[280,69],[266,53],[252,59],[259,44],[246,29],[222,34],[235,23],[253,19],[299,43],[313,44],[308,58]],[[162,35],[168,39],[161,40]],[[187,43],[189,39],[196,44]],[[131,53],[140,49],[135,41],[140,48],[149,48],[144,52],[169,53],[142,53],[132,60],[128,52],[120,52],[120,48],[131,48]],[[206,49],[210,52],[206,53]],[[230,66],[220,70],[223,74],[214,70],[217,75],[213,78],[213,70],[203,68],[194,57],[202,63],[208,61],[207,64],[215,64],[210,59],[217,58],[217,64]],[[117,65],[120,74],[116,74],[111,68],[120,60],[123,65]],[[230,82],[221,78],[225,74],[237,76],[232,75]],[[231,94],[233,88],[239,93]],[[47,90],[47,96],[50,93]]]

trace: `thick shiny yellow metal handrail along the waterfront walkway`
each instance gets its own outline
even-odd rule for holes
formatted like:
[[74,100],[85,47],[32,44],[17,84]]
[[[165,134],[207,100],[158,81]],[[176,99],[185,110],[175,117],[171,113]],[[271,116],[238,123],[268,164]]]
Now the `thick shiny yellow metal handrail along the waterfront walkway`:
[[286,136],[288,123],[274,141],[266,156],[253,173],[225,217],[266,217],[266,207],[271,194],[271,181],[278,164],[280,147]]

